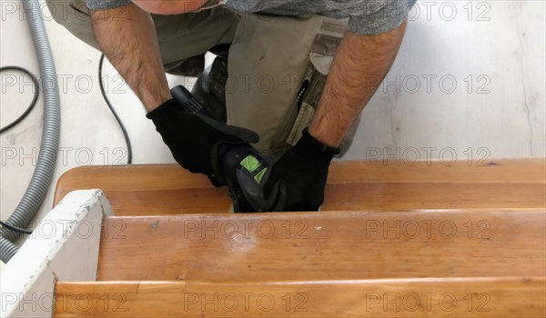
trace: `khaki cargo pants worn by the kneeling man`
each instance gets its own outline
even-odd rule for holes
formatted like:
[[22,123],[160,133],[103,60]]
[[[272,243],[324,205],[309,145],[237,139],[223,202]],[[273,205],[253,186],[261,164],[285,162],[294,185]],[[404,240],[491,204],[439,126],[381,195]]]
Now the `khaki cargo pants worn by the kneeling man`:
[[[57,23],[98,49],[83,0],[46,3]],[[347,25],[347,19],[236,13],[223,6],[153,18],[167,72],[217,45],[230,45],[227,122],[257,132],[255,146],[268,155],[296,144],[310,122]],[[358,122],[345,138],[342,154]]]

